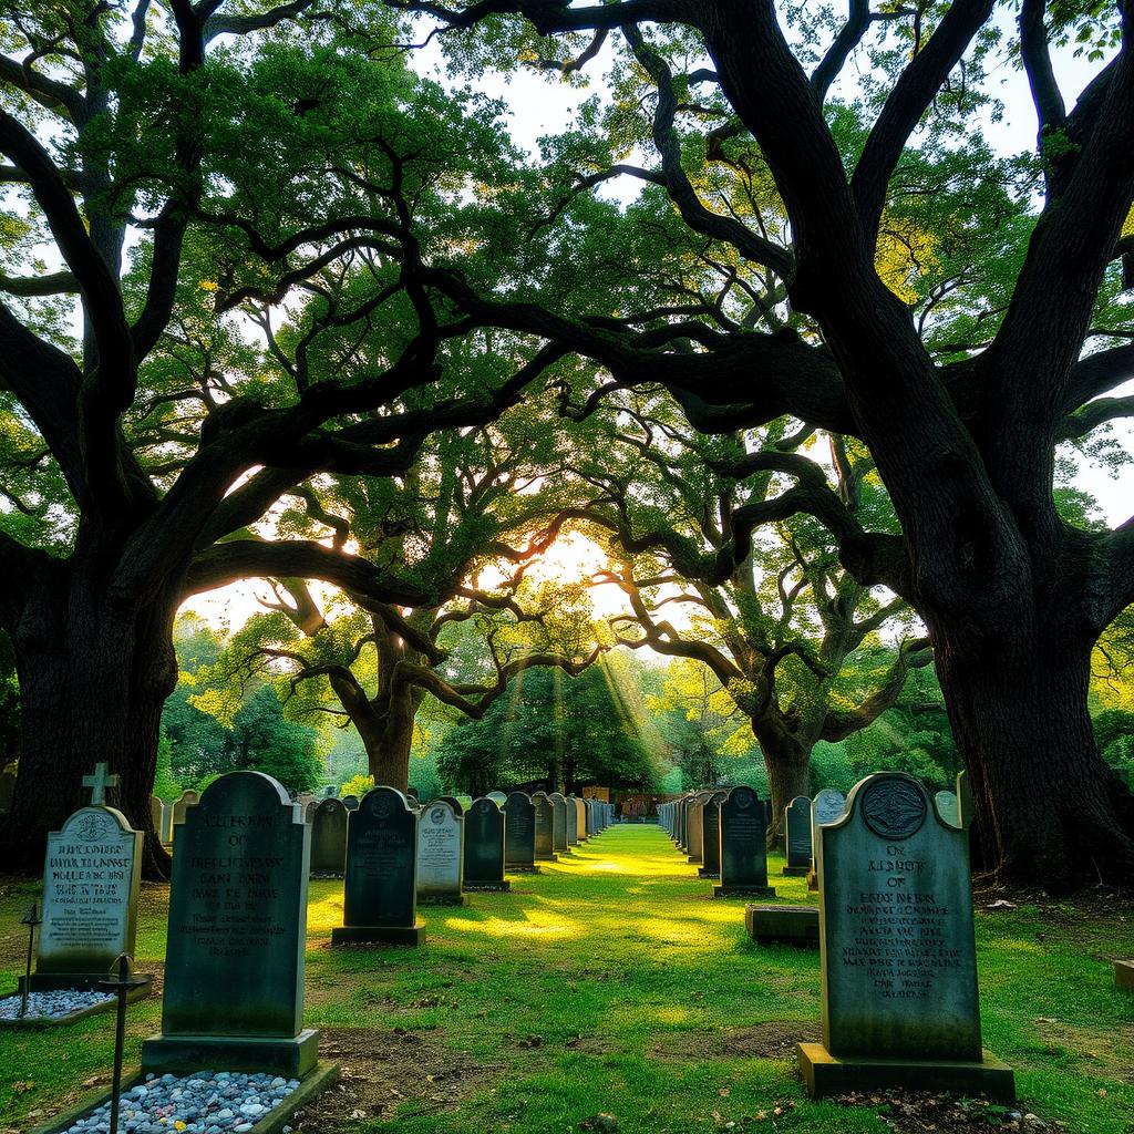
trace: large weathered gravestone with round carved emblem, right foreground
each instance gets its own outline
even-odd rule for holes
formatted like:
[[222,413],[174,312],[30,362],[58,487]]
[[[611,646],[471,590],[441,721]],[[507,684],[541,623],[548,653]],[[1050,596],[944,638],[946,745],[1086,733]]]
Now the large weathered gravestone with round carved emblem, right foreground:
[[823,1042],[798,1047],[812,1094],[906,1086],[1014,1097],[981,1049],[963,831],[912,776],[877,772],[819,828]]

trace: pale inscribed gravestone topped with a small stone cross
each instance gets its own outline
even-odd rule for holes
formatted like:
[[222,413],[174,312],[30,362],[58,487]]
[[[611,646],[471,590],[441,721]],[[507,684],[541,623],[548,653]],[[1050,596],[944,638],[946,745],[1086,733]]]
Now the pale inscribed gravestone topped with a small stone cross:
[[[105,789],[118,782],[105,764],[83,782],[93,788],[91,805],[48,835],[32,991],[96,989],[121,954],[134,956],[143,836],[103,804]],[[145,978],[130,999],[149,993]]]

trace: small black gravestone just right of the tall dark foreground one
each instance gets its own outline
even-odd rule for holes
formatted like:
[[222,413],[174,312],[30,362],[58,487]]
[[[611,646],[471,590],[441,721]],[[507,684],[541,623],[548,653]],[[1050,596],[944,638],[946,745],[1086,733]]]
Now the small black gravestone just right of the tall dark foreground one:
[[371,788],[347,814],[346,853],[342,925],[331,930],[331,945],[421,945],[409,799],[392,787]]

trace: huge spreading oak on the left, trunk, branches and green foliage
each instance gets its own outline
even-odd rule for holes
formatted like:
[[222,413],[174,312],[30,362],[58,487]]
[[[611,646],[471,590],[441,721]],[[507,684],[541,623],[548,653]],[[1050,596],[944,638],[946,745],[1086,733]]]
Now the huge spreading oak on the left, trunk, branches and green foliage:
[[179,604],[255,576],[435,603],[382,562],[254,525],[322,474],[405,472],[432,431],[491,421],[562,355],[499,332],[464,354],[479,321],[450,322],[423,276],[426,255],[481,255],[466,191],[506,180],[496,110],[359,48],[380,8],[311,7],[0,5],[10,868],[37,869],[95,748],[160,873],[149,795]]

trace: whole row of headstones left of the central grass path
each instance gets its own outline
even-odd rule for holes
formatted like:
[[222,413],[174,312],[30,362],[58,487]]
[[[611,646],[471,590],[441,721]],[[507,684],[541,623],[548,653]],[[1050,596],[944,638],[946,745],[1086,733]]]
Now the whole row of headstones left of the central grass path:
[[[84,782],[91,806],[48,840],[43,923],[33,988],[94,988],[133,956],[143,837],[105,806],[117,777],[100,764]],[[325,802],[325,801],[324,801]],[[332,801],[342,806],[340,801]],[[494,793],[465,812],[455,799],[420,810],[393,788],[369,792],[346,812],[344,926],[336,943],[405,940],[416,925],[418,870],[458,863],[462,827],[490,831],[501,864],[535,868],[613,820],[609,804],[553,793]],[[502,803],[502,806],[501,806]],[[345,810],[345,809],[344,809]],[[303,1030],[304,953],[312,824],[282,786],[230,772],[187,801],[176,824],[161,1034],[143,1044],[146,1070],[254,1067],[303,1076],[318,1033]],[[508,835],[509,824],[513,828]],[[431,873],[432,872],[432,873]]]

